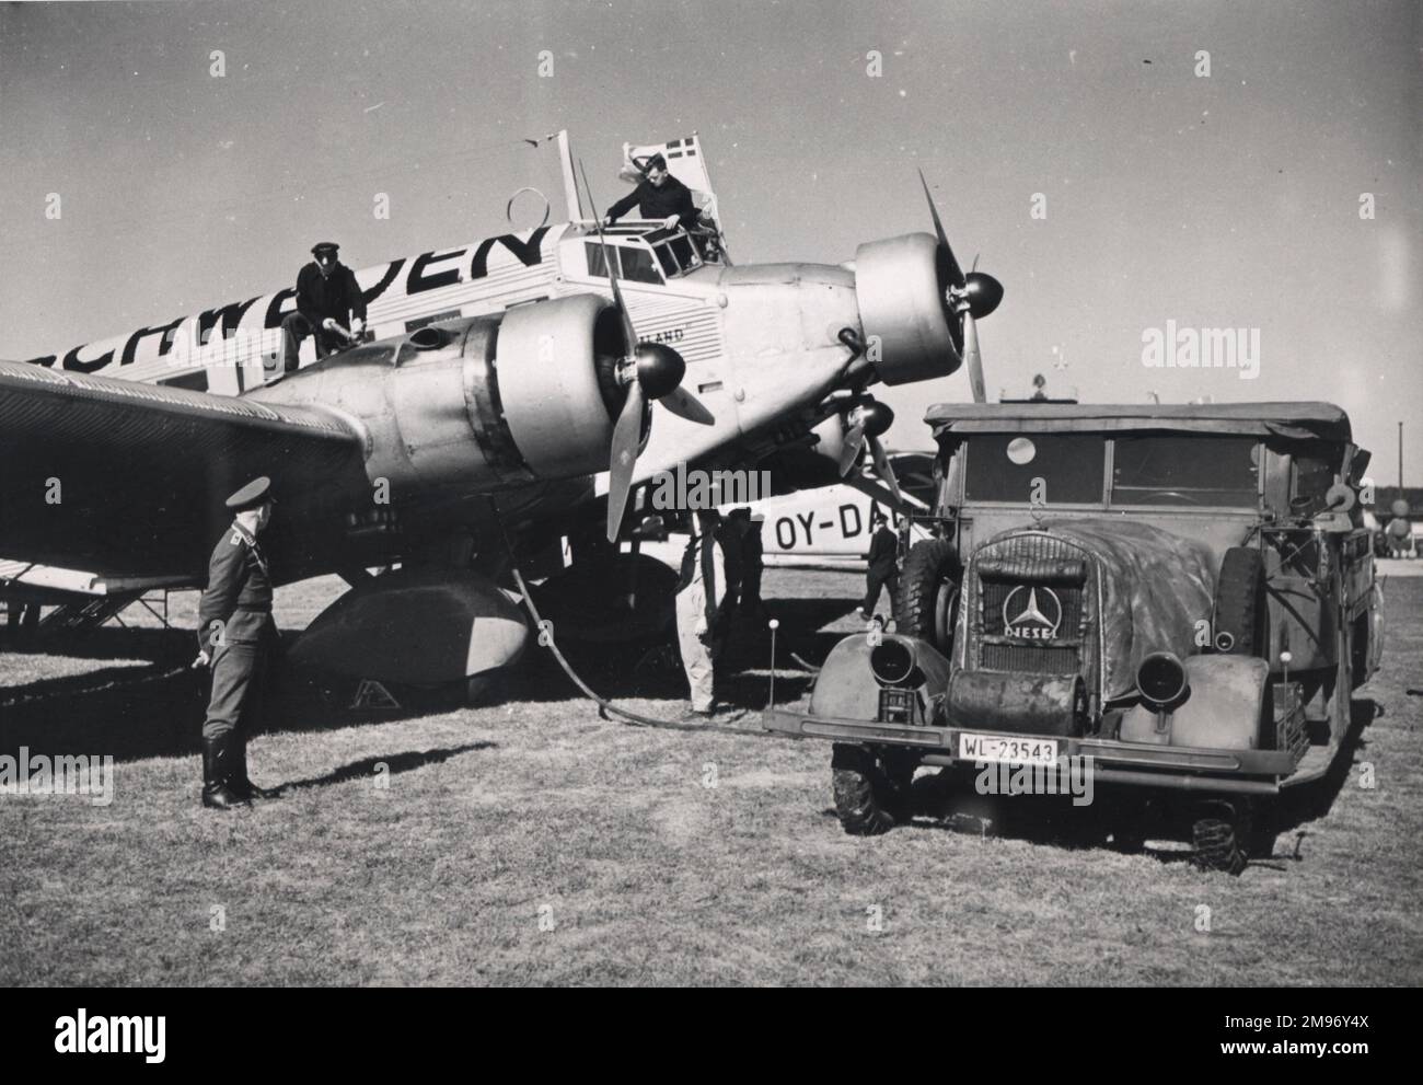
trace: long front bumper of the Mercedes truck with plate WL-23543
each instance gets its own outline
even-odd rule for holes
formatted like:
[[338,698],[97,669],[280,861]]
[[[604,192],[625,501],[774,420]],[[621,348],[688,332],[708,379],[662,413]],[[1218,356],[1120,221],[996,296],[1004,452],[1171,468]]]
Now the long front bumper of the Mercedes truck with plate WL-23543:
[[[986,729],[932,728],[908,723],[878,723],[862,719],[805,716],[783,709],[761,713],[766,730],[797,739],[827,739],[869,746],[901,746],[922,750],[925,765],[975,765],[959,758],[959,735],[1002,735],[1006,739],[1035,738]],[[1175,790],[1275,795],[1281,780],[1295,770],[1288,750],[1225,750],[1191,746],[1157,746],[1114,739],[1059,738],[1060,758],[1091,758],[1099,783]]]

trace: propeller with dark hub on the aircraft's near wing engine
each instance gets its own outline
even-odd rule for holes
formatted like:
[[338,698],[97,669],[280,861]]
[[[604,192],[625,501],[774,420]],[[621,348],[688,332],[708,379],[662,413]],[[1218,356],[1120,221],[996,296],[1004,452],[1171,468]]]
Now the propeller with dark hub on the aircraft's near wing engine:
[[[583,189],[592,202],[593,189],[588,184],[588,172],[583,164],[578,164],[583,174]],[[596,208],[596,204],[593,205]],[[608,249],[603,238],[602,219],[593,212],[593,225],[598,229],[598,246],[603,253],[603,263],[608,268],[608,285],[612,288],[613,306],[622,319],[623,343],[626,353],[618,359],[616,380],[620,387],[628,389],[628,399],[613,426],[613,443],[608,453],[608,541],[618,540],[618,530],[622,527],[623,513],[628,508],[628,496],[632,491],[633,470],[638,466],[638,450],[642,447],[643,427],[647,423],[649,403],[660,400],[667,410],[679,417],[710,426],[716,419],[702,403],[682,389],[682,377],[686,376],[687,363],[676,350],[666,343],[652,343],[638,337],[633,327],[632,315],[623,302],[622,288],[618,285],[618,265],[613,253]]]

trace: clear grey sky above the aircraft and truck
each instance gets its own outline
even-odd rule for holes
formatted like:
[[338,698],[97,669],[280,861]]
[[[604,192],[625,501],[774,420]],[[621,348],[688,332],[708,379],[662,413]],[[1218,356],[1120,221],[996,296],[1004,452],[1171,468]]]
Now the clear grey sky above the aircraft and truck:
[[[1385,484],[1405,420],[1419,484],[1420,47],[1417,0],[9,6],[0,356],[277,289],[317,239],[364,266],[504,232],[515,188],[561,191],[521,137],[568,128],[606,205],[623,141],[697,130],[739,262],[931,229],[922,167],[1007,290],[990,396],[1328,399]],[[1259,329],[1258,379],[1146,367],[1167,320]],[[882,397],[918,446],[968,382]]]

